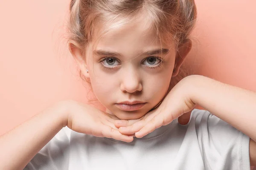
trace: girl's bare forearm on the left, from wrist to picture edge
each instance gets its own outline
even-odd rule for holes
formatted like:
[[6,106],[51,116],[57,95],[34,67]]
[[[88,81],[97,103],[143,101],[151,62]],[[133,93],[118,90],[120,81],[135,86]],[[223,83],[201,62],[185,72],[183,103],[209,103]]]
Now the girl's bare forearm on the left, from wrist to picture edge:
[[22,170],[64,126],[65,111],[52,106],[0,136],[0,169]]

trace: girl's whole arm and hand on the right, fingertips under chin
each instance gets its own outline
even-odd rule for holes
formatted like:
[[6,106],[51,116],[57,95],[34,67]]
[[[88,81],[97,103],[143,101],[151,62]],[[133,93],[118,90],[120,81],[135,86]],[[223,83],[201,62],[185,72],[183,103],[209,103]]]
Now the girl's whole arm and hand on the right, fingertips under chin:
[[[221,96],[221,97],[220,97]],[[256,165],[256,93],[232,85],[192,75],[182,79],[169,92],[161,105],[137,120],[116,120],[122,134],[134,134],[137,138],[167,125],[195,105],[229,123],[250,137],[250,164]],[[235,106],[235,107],[234,107]],[[187,116],[186,116],[187,117]],[[186,119],[186,118],[185,118]]]

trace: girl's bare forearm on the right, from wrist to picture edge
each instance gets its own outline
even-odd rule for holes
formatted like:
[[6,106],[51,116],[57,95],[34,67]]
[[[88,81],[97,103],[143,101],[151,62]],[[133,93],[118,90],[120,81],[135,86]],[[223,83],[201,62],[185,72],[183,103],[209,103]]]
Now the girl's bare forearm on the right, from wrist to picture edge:
[[192,101],[256,141],[256,93],[192,76]]

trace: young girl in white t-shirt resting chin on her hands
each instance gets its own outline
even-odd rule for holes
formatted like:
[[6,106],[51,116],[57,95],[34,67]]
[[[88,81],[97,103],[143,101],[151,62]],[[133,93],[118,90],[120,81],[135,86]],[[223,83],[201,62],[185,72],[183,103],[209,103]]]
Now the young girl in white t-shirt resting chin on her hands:
[[0,169],[249,170],[256,94],[175,83],[195,20],[193,0],[72,0],[69,49],[107,110],[58,102],[1,136]]

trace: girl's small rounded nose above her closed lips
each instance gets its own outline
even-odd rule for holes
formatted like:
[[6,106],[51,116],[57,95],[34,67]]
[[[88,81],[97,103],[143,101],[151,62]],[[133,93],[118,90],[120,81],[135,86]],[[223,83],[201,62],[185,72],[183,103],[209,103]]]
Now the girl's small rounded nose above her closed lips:
[[140,75],[137,71],[129,69],[122,74],[120,89],[123,92],[134,93],[142,91]]

